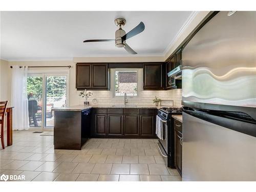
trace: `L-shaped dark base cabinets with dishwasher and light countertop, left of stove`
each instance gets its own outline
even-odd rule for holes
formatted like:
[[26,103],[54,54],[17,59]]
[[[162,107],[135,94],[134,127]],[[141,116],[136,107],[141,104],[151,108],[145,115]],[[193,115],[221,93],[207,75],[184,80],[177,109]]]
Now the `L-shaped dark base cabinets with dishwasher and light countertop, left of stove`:
[[87,106],[54,109],[54,148],[80,150],[89,138],[156,138],[156,106]]

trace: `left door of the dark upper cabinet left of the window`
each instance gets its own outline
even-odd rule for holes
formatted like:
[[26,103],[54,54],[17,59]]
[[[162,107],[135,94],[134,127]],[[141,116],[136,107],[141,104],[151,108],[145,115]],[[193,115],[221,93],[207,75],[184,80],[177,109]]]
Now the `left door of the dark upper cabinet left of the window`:
[[91,68],[90,63],[76,64],[76,89],[91,88]]

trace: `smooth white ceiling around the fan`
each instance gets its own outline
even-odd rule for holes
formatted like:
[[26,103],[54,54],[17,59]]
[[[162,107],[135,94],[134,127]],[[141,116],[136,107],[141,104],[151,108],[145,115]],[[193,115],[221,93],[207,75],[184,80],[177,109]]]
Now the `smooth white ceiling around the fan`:
[[72,59],[88,56],[130,56],[114,42],[114,19],[124,17],[129,32],[141,21],[145,30],[126,40],[138,56],[162,56],[193,15],[192,11],[41,11],[1,12],[1,58],[7,60]]

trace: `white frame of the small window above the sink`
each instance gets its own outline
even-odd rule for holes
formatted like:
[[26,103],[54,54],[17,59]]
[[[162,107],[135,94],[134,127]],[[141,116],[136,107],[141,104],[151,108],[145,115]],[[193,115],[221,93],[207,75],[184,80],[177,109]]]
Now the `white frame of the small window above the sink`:
[[142,69],[140,68],[115,68],[115,69],[111,69],[111,93],[112,93],[112,97],[116,98],[116,99],[123,99],[124,96],[119,96],[116,95],[116,90],[115,90],[115,78],[116,78],[116,72],[117,71],[136,71],[137,72],[137,96],[131,96],[131,95],[127,95],[127,98],[138,98],[141,92],[141,77],[142,77]]

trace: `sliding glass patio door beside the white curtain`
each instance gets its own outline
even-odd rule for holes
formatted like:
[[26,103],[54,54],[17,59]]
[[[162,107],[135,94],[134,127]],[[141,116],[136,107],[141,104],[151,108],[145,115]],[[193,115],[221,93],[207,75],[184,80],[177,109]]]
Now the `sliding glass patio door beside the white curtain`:
[[68,73],[29,74],[27,82],[31,129],[52,129],[53,108],[68,104]]

